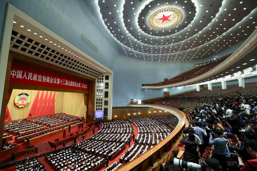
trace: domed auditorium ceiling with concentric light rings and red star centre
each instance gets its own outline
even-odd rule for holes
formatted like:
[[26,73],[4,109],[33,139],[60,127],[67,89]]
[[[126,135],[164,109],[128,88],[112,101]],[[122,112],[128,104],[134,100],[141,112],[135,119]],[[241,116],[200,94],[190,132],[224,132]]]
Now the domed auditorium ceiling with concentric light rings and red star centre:
[[[123,53],[192,61],[243,43],[257,27],[256,0],[98,0],[93,5]],[[222,56],[219,56],[222,57]]]

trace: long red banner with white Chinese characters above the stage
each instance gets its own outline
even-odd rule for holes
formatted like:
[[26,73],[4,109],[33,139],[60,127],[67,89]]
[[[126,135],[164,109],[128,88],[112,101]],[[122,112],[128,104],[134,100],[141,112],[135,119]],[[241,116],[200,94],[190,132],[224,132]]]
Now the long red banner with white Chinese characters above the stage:
[[11,67],[10,83],[89,91],[88,82],[16,64]]

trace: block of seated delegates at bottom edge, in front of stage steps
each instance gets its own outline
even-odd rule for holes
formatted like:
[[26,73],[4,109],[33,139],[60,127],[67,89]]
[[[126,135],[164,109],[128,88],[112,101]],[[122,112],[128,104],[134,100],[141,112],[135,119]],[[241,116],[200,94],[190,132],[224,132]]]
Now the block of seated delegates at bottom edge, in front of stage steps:
[[45,156],[54,170],[98,170],[105,164],[104,158],[68,148]]

